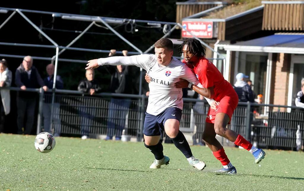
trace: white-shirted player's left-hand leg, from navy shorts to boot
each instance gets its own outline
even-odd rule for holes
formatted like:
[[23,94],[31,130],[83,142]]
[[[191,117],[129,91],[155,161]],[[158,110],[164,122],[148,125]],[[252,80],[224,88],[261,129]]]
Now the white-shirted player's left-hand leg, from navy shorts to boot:
[[160,168],[163,164],[169,164],[169,157],[164,156],[163,145],[159,141],[161,137],[160,124],[157,122],[157,116],[146,113],[145,121],[143,124],[143,137],[144,145],[152,154],[155,160],[150,168]]

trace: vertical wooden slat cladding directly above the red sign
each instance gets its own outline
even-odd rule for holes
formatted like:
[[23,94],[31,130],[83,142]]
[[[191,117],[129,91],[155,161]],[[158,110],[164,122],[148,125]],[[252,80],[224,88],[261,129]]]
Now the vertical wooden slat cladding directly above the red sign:
[[181,4],[176,5],[176,22],[181,23],[181,20],[195,13],[211,9],[218,6],[217,4]]

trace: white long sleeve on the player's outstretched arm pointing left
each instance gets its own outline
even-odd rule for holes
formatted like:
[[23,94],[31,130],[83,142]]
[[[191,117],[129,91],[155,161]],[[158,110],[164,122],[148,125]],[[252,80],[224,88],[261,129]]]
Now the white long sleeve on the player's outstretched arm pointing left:
[[147,68],[154,62],[154,55],[135,55],[135,56],[113,56],[109,58],[99,58],[98,65],[135,65],[142,69]]

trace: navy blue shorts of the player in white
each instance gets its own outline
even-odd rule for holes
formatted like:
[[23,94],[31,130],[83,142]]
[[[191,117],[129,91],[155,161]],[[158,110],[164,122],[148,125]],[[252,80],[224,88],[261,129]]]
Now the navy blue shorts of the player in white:
[[143,123],[143,134],[146,136],[161,135],[167,119],[177,119],[181,121],[181,109],[167,108],[158,115],[151,115],[146,112],[145,122]]

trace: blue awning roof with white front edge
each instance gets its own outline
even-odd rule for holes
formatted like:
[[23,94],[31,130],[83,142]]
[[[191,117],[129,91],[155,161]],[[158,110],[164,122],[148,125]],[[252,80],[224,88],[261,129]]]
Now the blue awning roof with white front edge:
[[274,34],[224,46],[225,50],[304,54],[304,35]]

